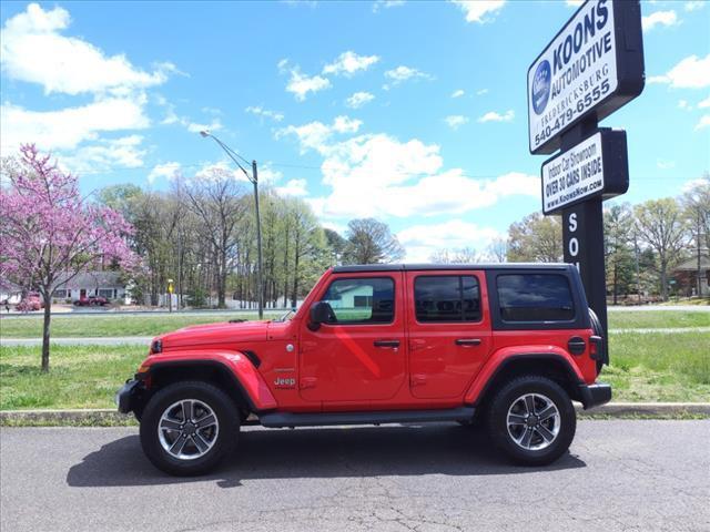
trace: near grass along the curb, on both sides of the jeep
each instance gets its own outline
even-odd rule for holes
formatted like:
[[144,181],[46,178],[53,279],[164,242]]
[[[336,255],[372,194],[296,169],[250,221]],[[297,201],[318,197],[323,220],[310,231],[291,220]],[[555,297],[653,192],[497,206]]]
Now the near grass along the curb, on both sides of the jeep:
[[[710,401],[710,332],[613,334],[602,380],[616,401]],[[145,356],[141,346],[0,347],[0,409],[113,408],[113,395]]]

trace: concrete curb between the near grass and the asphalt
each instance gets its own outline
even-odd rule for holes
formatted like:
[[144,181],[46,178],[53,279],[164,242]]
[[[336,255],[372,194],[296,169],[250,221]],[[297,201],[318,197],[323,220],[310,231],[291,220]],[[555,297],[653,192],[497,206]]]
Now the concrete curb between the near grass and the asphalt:
[[[589,410],[576,405],[577,412],[584,416],[604,416],[610,418],[641,417],[710,417],[710,402],[610,402]],[[87,410],[2,410],[0,426],[11,424],[67,424],[105,426],[134,424],[132,415],[119,413],[113,409]]]

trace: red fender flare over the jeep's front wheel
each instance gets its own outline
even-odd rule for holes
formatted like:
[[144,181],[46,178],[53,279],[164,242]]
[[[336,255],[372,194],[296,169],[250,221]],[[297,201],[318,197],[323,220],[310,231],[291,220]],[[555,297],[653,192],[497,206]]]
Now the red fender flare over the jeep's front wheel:
[[242,351],[212,349],[178,351],[175,355],[150,356],[143,364],[151,376],[161,369],[210,368],[219,371],[234,385],[253,412],[274,410],[278,406],[250,356]]

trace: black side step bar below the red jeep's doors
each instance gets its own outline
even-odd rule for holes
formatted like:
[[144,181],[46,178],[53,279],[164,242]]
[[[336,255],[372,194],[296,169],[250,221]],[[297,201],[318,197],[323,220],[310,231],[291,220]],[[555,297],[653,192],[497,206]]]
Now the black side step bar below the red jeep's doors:
[[392,410],[374,412],[323,412],[291,413],[273,412],[260,416],[261,424],[270,428],[318,427],[328,424],[379,424],[423,423],[435,421],[468,421],[474,417],[474,407],[445,410]]

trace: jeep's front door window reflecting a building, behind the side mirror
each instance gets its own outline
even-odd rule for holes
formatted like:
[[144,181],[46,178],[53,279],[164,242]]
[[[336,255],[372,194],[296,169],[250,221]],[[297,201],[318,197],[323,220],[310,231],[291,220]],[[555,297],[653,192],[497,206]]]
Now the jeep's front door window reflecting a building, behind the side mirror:
[[322,301],[331,305],[334,324],[388,324],[395,317],[395,282],[388,277],[337,279]]

